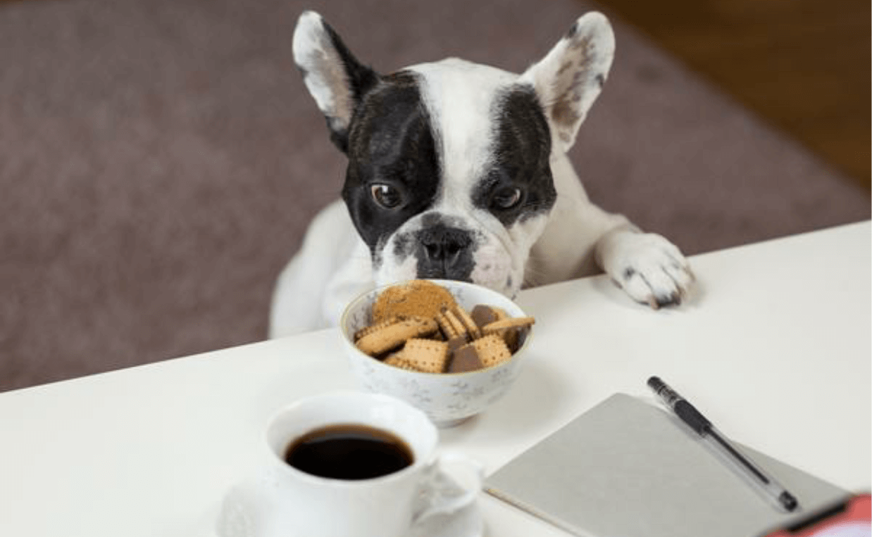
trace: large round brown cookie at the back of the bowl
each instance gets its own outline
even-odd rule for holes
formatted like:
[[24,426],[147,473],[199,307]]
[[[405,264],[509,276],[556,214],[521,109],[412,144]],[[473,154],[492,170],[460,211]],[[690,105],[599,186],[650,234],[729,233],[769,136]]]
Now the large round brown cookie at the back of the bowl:
[[448,289],[426,280],[412,280],[382,291],[372,304],[372,322],[392,316],[435,317],[442,309],[455,306],[457,302]]

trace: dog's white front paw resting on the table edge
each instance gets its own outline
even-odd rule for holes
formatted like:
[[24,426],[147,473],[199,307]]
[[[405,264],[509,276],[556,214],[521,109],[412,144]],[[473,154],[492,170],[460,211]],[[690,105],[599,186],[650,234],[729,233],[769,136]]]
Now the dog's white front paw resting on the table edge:
[[680,304],[694,281],[685,256],[660,235],[621,231],[598,246],[603,270],[633,300],[653,309]]

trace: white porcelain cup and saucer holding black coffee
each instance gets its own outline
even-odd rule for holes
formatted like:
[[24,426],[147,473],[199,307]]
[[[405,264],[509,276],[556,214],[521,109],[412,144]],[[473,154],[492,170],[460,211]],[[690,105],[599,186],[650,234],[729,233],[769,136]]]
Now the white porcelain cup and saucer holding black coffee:
[[[412,452],[412,463],[370,479],[330,479],[285,462],[296,439],[329,425],[364,425],[389,432]],[[422,520],[470,506],[481,488],[481,466],[457,453],[436,454],[439,432],[424,412],[381,394],[340,391],[305,398],[269,421],[269,463],[225,497],[220,537],[403,537]],[[458,470],[465,487],[446,473]],[[472,476],[470,478],[470,476]],[[455,476],[456,477],[456,476]]]

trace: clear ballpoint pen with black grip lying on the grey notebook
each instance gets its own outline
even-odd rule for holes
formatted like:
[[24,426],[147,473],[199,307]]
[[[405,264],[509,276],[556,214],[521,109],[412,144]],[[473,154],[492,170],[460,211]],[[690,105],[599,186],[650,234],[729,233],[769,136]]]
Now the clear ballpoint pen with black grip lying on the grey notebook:
[[715,429],[712,422],[706,419],[685,398],[678,395],[676,391],[672,390],[659,377],[649,378],[648,385],[675,412],[678,418],[690,426],[701,438],[706,440],[707,445],[713,451],[721,455],[721,459],[731,462],[740,473],[748,478],[746,480],[749,483],[753,483],[767,498],[774,500],[778,506],[787,511],[796,511],[800,508],[800,504],[793,494],[787,492],[784,486],[781,486],[772,476],[764,472],[760,466],[754,464],[746,455],[739,452],[726,437]]

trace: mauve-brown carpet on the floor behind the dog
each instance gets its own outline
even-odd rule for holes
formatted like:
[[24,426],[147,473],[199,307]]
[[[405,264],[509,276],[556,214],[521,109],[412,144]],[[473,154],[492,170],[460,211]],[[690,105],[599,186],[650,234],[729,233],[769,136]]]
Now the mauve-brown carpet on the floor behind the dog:
[[[0,3],[0,391],[262,339],[344,171],[291,60],[308,7],[380,71],[521,71],[591,4]],[[689,254],[869,218],[867,193],[616,26],[573,151],[595,201]]]

